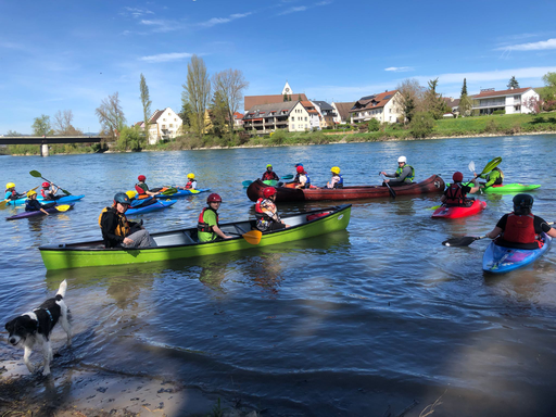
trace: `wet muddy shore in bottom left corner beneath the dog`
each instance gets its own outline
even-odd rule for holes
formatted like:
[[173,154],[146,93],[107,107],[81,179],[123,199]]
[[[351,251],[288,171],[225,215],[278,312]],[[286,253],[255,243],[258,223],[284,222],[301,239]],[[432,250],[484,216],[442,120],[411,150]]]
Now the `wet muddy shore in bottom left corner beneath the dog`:
[[[30,374],[23,351],[0,358],[0,416],[226,416],[257,417],[232,400],[187,388],[177,381],[130,376],[102,369],[56,369]],[[40,356],[39,356],[40,357]],[[34,361],[38,361],[36,354]]]

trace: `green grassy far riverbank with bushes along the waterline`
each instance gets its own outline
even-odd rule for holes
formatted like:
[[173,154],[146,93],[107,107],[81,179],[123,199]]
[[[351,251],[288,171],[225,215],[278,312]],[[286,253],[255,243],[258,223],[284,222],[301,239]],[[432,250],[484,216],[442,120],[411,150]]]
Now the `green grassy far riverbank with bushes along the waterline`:
[[[372,126],[372,127],[371,127]],[[372,131],[369,131],[371,130]],[[395,140],[472,138],[488,136],[522,136],[556,134],[556,112],[542,114],[513,114],[476,117],[458,117],[434,121],[425,128],[415,128],[400,124],[359,124],[338,125],[336,129],[306,132],[276,131],[266,136],[250,136],[240,130],[222,137],[203,135],[199,137],[186,134],[170,141],[146,146],[143,151],[181,151],[202,149],[260,148],[280,146],[308,146],[326,143],[378,142]],[[33,144],[9,146],[11,155],[39,155],[40,147]],[[54,144],[51,154],[129,152],[121,142],[109,146]]]

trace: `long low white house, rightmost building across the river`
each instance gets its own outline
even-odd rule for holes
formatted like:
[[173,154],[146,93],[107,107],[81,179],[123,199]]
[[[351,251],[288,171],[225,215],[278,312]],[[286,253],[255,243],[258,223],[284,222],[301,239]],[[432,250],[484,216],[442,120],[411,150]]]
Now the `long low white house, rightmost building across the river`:
[[531,87],[510,88],[496,91],[494,88],[481,90],[480,93],[471,96],[473,113],[492,114],[495,111],[504,111],[505,114],[531,113],[529,99],[540,100],[539,93]]

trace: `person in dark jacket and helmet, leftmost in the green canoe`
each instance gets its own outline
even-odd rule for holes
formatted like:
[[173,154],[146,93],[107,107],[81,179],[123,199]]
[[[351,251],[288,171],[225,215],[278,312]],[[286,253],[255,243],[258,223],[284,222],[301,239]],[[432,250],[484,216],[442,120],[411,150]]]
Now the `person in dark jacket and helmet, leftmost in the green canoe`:
[[139,223],[128,222],[126,217],[130,203],[131,200],[125,192],[118,192],[114,195],[112,207],[102,210],[99,216],[99,226],[106,249],[141,249],[151,245],[149,232]]

